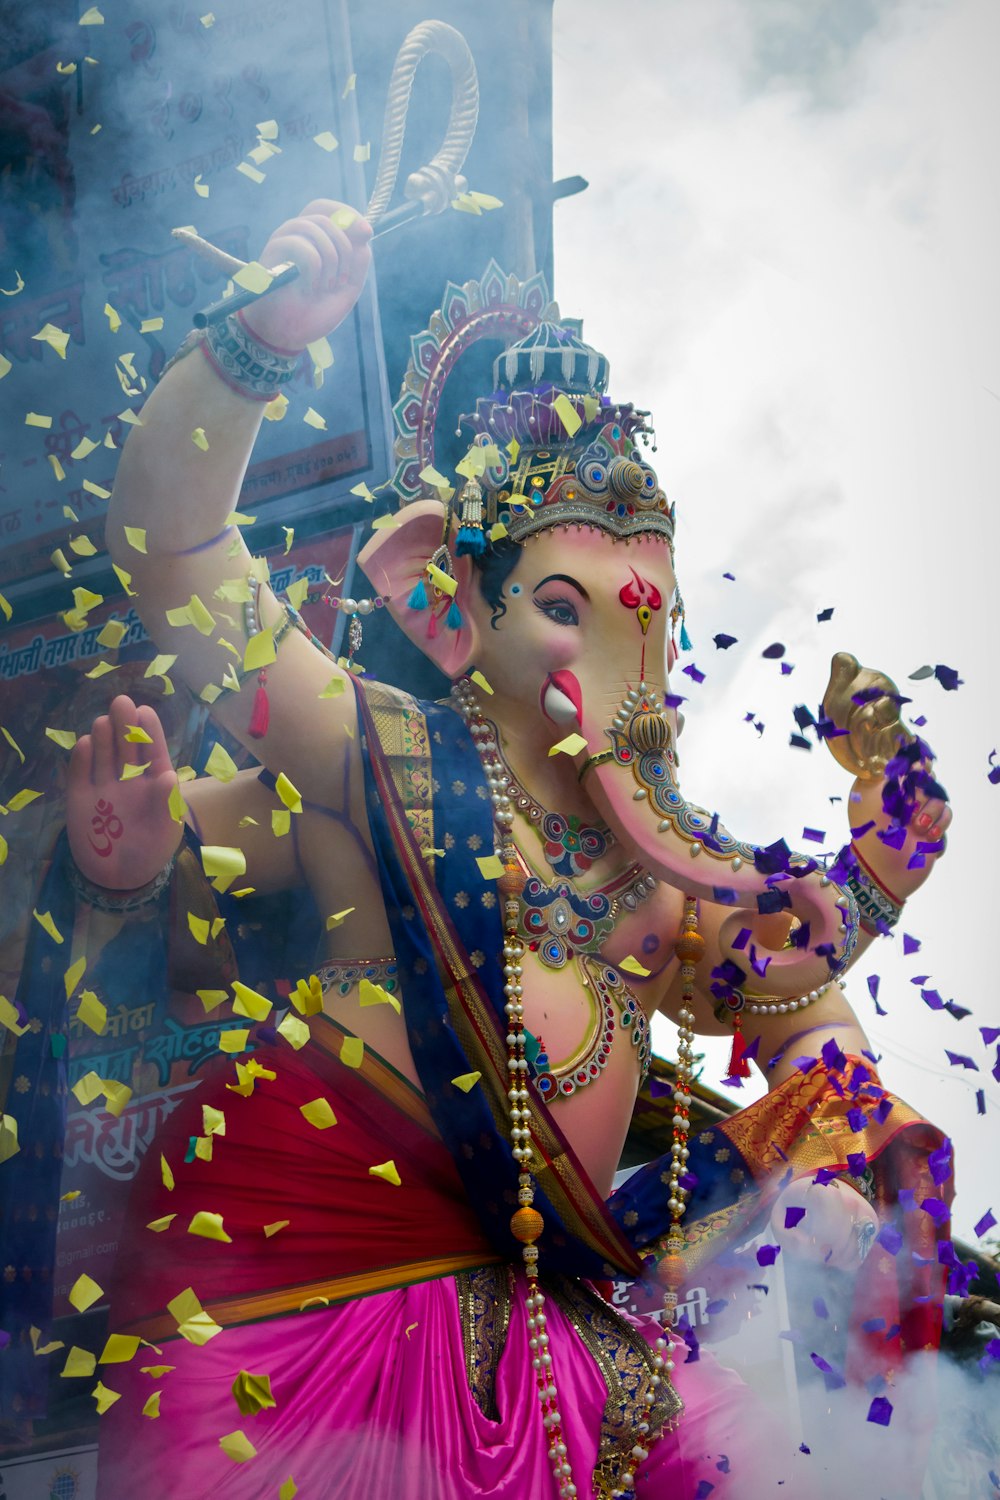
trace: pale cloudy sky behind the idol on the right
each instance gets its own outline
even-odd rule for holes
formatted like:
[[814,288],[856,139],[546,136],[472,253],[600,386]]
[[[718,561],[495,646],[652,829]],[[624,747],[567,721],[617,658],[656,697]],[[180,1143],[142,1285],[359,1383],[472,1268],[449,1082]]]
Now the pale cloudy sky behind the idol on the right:
[[[738,837],[814,852],[811,826],[838,848],[831,798],[850,778],[823,747],[789,746],[792,708],[816,711],[847,650],[925,716],[949,848],[898,928],[919,951],[880,939],[847,996],[883,1082],[954,1140],[972,1244],[988,1208],[1000,1216],[997,1046],[978,1029],[1000,1024],[999,48],[990,0],[555,4],[555,177],[589,182],[556,204],[555,294],[609,356],[612,394],[657,423],[684,664],[705,672],[675,678],[684,790]],[[738,644],[720,651],[717,632]],[[762,658],[772,642],[792,674]],[[939,663],[961,687],[910,681]],[[972,1014],[931,1011],[921,988]],[[666,1022],[657,1044],[670,1056]],[[706,1047],[706,1083],[726,1056]]]

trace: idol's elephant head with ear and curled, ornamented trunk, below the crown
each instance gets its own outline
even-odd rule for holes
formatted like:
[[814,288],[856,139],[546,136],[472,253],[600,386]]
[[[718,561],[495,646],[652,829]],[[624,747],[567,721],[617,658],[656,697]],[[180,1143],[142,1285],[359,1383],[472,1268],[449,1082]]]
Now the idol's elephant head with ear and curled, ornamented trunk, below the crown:
[[[600,814],[661,880],[732,904],[720,936],[723,951],[750,975],[748,987],[801,994],[846,957],[849,898],[813,860],[784,846],[741,843],[684,798],[669,693],[676,657],[670,531],[666,524],[630,532],[601,522],[553,513],[546,525],[522,526],[519,540],[510,526],[481,556],[451,562],[454,520],[448,525],[439,502],[418,501],[375,534],[360,562],[391,596],[397,624],[441,670],[456,680],[478,669],[486,678],[487,712],[517,750],[529,790],[546,801],[547,786],[562,796],[562,810],[585,818],[589,810],[591,822]],[[442,566],[429,568],[433,556]],[[550,754],[571,734],[586,742],[573,765]],[[532,766],[541,788],[532,784]],[[747,944],[730,945],[742,928],[754,933],[759,910],[781,906],[799,920],[801,945],[768,952],[766,976],[757,978]],[[763,968],[762,956],[757,962]]]

